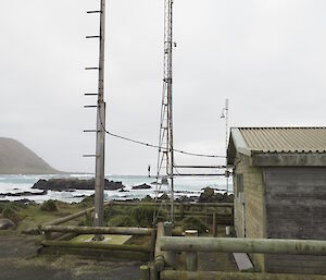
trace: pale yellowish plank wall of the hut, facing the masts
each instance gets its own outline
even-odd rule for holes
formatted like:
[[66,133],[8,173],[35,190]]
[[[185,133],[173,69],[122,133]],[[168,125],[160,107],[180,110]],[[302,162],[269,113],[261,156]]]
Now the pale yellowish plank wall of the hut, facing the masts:
[[[244,193],[244,223],[243,208],[239,199],[237,180],[234,178],[235,187],[235,228],[237,235],[243,238],[243,224],[246,224],[247,238],[265,238],[265,207],[264,184],[262,169],[252,167],[251,158],[237,155],[238,163],[235,168],[235,176],[242,174]],[[251,258],[262,271],[265,269],[263,254],[252,254]]]

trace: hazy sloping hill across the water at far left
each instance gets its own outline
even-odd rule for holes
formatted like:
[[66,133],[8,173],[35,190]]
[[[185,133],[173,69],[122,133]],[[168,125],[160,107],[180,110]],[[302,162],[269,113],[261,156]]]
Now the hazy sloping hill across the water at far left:
[[22,143],[0,137],[0,174],[61,173]]

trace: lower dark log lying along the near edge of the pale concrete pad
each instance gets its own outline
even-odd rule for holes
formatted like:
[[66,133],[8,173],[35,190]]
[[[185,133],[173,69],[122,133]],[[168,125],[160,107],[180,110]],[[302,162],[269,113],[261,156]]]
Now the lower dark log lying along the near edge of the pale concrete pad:
[[105,244],[101,242],[71,242],[71,241],[42,241],[45,247],[60,248],[90,248],[90,249],[109,249],[109,251],[129,251],[129,252],[146,252],[150,253],[150,246],[143,245],[116,245]]

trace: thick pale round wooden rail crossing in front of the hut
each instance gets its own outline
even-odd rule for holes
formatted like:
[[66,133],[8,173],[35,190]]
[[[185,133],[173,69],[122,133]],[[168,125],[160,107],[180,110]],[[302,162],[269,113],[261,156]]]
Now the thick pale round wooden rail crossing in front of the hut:
[[326,256],[326,241],[164,236],[161,239],[161,249]]

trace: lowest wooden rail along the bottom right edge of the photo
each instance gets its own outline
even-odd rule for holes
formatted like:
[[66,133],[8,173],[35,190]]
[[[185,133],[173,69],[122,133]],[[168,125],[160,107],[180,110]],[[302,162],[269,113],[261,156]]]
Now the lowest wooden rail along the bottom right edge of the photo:
[[224,271],[164,270],[161,280],[326,280],[326,276],[292,273],[250,273]]

